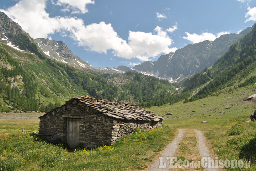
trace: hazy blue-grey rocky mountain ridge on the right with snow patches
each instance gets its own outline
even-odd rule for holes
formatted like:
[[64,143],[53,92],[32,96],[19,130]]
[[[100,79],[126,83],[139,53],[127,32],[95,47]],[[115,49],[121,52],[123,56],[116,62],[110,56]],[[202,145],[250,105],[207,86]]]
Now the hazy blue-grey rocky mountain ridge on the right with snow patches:
[[205,40],[196,44],[188,44],[184,48],[177,49],[175,53],[161,55],[157,61],[145,61],[133,68],[119,66],[117,69],[136,70],[146,75],[176,82],[212,66],[232,44],[244,37],[251,29],[247,27],[239,34],[221,35],[214,41]]

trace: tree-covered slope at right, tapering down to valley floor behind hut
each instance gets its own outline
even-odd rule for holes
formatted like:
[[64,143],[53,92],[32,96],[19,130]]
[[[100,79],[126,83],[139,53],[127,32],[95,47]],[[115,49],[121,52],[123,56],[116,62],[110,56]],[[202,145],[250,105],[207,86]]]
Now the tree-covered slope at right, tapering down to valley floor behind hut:
[[[256,24],[255,24],[256,25]],[[230,46],[229,50],[221,56],[210,68],[205,68],[199,73],[174,83],[179,88],[180,94],[161,99],[163,104],[182,101],[195,101],[215,96],[223,90],[232,92],[238,87],[246,87],[256,83],[256,27],[241,38],[239,42]],[[157,100],[144,104],[156,106]]]

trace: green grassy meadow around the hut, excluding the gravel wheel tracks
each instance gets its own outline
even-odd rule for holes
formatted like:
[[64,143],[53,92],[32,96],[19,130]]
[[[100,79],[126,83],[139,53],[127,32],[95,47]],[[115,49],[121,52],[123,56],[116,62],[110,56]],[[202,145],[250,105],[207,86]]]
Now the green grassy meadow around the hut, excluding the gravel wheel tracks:
[[[230,90],[232,89],[232,91]],[[21,133],[38,130],[39,119],[0,120],[0,168],[2,170],[146,170],[161,150],[177,134],[178,128],[188,129],[179,148],[180,159],[198,154],[196,137],[190,129],[202,130],[213,156],[219,159],[251,161],[255,170],[256,122],[246,123],[255,110],[255,103],[242,101],[256,93],[255,86],[232,87],[218,96],[190,103],[151,107],[150,111],[164,117],[164,129],[145,131],[119,139],[110,147],[95,149],[67,149]],[[230,109],[224,109],[230,106]],[[167,112],[173,115],[166,116]],[[24,114],[0,114],[0,116]],[[30,115],[30,114],[25,114]],[[38,114],[32,114],[38,115]],[[201,123],[207,121],[208,123]],[[9,134],[5,134],[9,133]],[[197,155],[198,157],[198,155]],[[195,158],[194,160],[198,160]],[[233,169],[235,170],[235,169]],[[240,169],[238,169],[240,170]]]

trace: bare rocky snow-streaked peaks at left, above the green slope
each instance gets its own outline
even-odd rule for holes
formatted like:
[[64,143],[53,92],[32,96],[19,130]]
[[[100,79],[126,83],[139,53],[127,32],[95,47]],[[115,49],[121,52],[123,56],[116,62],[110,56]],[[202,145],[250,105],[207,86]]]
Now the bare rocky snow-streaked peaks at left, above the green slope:
[[[75,56],[68,46],[62,41],[49,40],[44,38],[33,39],[23,31],[21,26],[12,21],[5,13],[0,12],[0,42],[8,44],[17,50],[29,51],[45,59],[45,53],[52,59],[78,67],[86,72],[96,75],[111,75],[112,72],[102,68],[94,68],[87,62]],[[43,52],[43,53],[42,53]]]

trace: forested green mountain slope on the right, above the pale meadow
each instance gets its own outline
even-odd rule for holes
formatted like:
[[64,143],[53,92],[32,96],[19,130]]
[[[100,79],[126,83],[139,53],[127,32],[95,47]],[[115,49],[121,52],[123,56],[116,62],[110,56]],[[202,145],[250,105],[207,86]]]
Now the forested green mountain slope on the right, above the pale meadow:
[[252,31],[246,34],[239,42],[231,45],[229,51],[220,57],[212,68],[208,70],[206,68],[201,73],[184,81],[183,86],[186,87],[184,91],[198,88],[210,81],[188,99],[189,101],[194,101],[205,98],[208,95],[218,94],[219,90],[233,86],[243,79],[246,79],[246,82],[241,85],[246,86],[246,84],[255,82],[254,76],[250,75],[250,73],[254,72],[255,68],[256,27],[254,25]]

